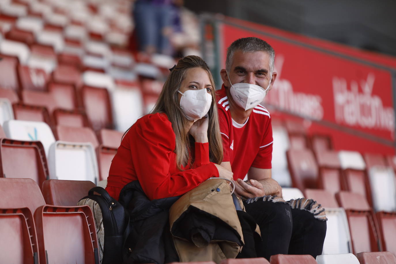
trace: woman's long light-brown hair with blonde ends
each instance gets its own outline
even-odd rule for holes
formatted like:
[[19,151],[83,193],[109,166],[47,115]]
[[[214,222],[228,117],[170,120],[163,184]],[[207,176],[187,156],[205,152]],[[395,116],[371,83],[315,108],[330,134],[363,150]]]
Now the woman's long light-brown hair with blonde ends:
[[[173,68],[162,88],[160,97],[152,110],[152,113],[165,113],[172,123],[173,131],[176,135],[176,165],[181,170],[182,164],[187,164],[190,156],[190,137],[188,133],[188,120],[185,118],[183,110],[180,107],[178,92],[181,83],[186,78],[187,71],[190,68],[202,68],[208,72],[210,84],[212,85],[212,103],[209,109],[209,160],[220,164],[223,161],[223,144],[220,136],[219,115],[217,114],[215,84],[212,74],[205,61],[198,56],[187,56],[180,59]],[[190,160],[189,165],[194,161]]]

